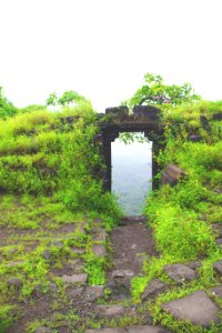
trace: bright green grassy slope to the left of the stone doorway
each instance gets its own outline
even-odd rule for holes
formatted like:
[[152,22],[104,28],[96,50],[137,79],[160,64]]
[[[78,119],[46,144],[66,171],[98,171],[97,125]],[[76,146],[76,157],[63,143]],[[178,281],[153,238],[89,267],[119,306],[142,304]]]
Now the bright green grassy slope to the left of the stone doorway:
[[[70,115],[74,123],[63,124],[61,118]],[[37,285],[48,292],[50,282],[61,284],[49,268],[81,258],[71,252],[73,246],[87,251],[89,283],[104,281],[105,263],[91,254],[82,228],[90,230],[93,219],[102,218],[109,229],[120,209],[102,193],[97,176],[102,161],[93,142],[94,121],[93,110],[82,104],[63,113],[42,110],[0,122],[0,332],[20,316],[20,302],[31,302]],[[8,285],[11,278],[22,281],[19,292]]]

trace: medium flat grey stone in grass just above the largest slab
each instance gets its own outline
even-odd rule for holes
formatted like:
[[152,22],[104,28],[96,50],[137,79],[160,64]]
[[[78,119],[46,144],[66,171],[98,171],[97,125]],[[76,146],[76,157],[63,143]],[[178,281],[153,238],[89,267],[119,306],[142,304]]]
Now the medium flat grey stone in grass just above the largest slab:
[[167,265],[164,270],[167,274],[178,283],[198,279],[196,272],[184,264]]

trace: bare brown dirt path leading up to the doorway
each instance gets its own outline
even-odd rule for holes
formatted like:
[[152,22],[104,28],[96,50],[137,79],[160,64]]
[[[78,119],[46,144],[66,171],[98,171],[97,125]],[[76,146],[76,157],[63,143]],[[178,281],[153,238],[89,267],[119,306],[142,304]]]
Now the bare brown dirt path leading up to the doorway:
[[142,272],[145,258],[157,254],[152,232],[142,218],[127,218],[122,222],[123,225],[113,229],[110,236],[113,265],[107,276],[114,300],[131,296],[131,279]]

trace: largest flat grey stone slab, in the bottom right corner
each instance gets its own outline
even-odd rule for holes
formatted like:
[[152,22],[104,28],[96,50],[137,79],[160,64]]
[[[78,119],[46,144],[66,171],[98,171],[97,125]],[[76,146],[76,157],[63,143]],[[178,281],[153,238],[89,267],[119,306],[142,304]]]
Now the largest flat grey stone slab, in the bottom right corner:
[[191,321],[193,325],[208,326],[218,323],[219,307],[203,291],[196,291],[189,296],[170,301],[162,305],[175,319]]

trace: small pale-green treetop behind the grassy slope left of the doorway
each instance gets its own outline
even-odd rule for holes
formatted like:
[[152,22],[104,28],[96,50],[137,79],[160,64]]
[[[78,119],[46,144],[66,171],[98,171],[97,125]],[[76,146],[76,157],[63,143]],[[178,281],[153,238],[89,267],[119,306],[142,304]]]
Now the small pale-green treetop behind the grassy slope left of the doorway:
[[83,95],[73,90],[65,90],[61,97],[52,92],[47,99],[47,105],[68,107],[72,103],[89,102]]

